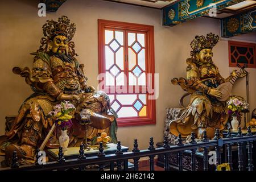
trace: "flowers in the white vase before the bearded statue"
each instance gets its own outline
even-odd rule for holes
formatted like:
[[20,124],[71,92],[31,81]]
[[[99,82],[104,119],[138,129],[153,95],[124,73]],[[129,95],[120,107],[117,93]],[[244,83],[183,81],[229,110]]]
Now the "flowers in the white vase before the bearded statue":
[[53,111],[49,112],[49,115],[55,120],[55,125],[60,126],[61,130],[69,129],[73,125],[71,114],[76,107],[68,101],[64,101],[56,105],[53,109]]

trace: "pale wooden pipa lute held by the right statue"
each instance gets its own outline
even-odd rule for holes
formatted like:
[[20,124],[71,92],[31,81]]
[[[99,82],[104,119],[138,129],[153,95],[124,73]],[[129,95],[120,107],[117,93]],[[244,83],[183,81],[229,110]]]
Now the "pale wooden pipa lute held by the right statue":
[[232,87],[234,85],[234,82],[236,82],[236,80],[238,79],[238,77],[242,74],[245,73],[247,74],[248,72],[245,71],[245,67],[246,65],[243,65],[243,67],[241,67],[239,64],[237,64],[238,67],[240,67],[240,71],[237,73],[236,76],[234,76],[231,80],[224,82],[223,84],[218,85],[217,90],[219,90],[221,92],[221,98],[217,97],[218,101],[226,101],[228,100],[231,91],[232,91]]

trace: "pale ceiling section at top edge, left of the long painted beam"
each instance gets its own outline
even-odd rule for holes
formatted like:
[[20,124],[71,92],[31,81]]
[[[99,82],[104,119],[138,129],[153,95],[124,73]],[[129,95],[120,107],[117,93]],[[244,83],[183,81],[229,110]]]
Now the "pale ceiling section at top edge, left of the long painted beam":
[[141,5],[147,7],[163,8],[164,6],[170,5],[177,0],[106,0],[106,1],[116,1],[122,3],[129,3],[134,5]]

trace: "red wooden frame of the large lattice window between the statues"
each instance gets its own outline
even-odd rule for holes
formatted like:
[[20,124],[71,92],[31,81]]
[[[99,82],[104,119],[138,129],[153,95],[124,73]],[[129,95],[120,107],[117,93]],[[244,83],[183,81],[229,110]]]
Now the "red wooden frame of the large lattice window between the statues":
[[[98,72],[105,73],[105,30],[123,30],[123,31],[136,31],[143,32],[145,37],[146,53],[146,73],[152,73],[152,89],[154,89],[154,73],[155,73],[155,55],[154,55],[154,26],[148,26],[137,23],[117,22],[112,20],[98,19]],[[125,42],[127,42],[127,36]],[[146,41],[147,40],[147,41]],[[128,49],[124,45],[125,49]],[[125,51],[126,52],[126,51]],[[126,52],[126,55],[128,52]],[[127,62],[127,61],[126,61]],[[127,63],[126,63],[127,64]],[[125,70],[128,72],[128,68]],[[101,82],[102,80],[99,80]],[[127,85],[129,83],[127,82]],[[147,82],[146,82],[147,84]],[[127,88],[126,85],[126,88]],[[133,86],[135,88],[135,86]],[[143,89],[139,86],[139,90]],[[107,92],[108,93],[108,92]],[[117,93],[114,93],[117,94]],[[119,93],[118,93],[119,94]],[[147,93],[147,95],[150,95]],[[117,119],[118,126],[140,126],[140,125],[155,125],[155,100],[147,100],[147,116],[146,117],[126,117]]]

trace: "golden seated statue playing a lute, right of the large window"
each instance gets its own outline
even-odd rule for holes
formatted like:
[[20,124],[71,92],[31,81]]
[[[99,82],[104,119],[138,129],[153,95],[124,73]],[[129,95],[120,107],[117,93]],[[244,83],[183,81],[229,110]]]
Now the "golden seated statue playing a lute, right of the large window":
[[172,80],[172,84],[179,84],[188,92],[181,98],[181,105],[183,98],[191,94],[189,105],[169,124],[170,133],[175,136],[181,134],[183,138],[187,138],[187,142],[190,141],[192,132],[197,138],[203,138],[204,131],[207,131],[207,137],[212,139],[215,129],[224,129],[229,118],[228,107],[226,101],[219,101],[222,92],[217,87],[234,77],[242,76],[236,70],[228,78],[220,75],[218,67],[212,61],[212,48],[218,39],[218,35],[212,33],[206,37],[196,36],[191,42],[192,57],[187,59],[187,78]]

